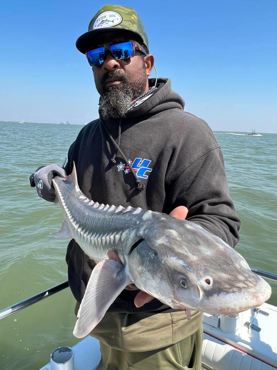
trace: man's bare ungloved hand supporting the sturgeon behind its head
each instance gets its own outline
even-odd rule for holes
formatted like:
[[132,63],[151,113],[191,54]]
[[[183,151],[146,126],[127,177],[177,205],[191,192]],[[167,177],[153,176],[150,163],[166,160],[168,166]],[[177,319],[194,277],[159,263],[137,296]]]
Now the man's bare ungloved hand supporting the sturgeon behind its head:
[[[173,209],[173,211],[171,211],[169,215],[172,216],[172,217],[185,219],[187,217],[187,214],[188,214],[187,207],[179,206],[179,207],[176,207],[175,209]],[[107,254],[108,254],[109,259],[114,259],[114,260],[122,263],[115,250],[110,250]],[[125,289],[137,290],[138,288],[136,287],[136,285],[130,284],[130,285],[127,285]],[[145,303],[150,302],[152,299],[154,299],[154,297],[152,297],[152,296],[150,296],[150,294],[140,290],[137,293],[137,295],[134,299],[134,305],[136,307],[141,307],[141,306],[145,305]]]

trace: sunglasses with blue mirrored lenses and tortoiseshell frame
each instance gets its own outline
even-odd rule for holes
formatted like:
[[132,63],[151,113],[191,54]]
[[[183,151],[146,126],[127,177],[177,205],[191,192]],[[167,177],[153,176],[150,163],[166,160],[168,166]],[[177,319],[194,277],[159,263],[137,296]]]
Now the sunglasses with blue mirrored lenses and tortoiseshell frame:
[[101,65],[104,63],[105,54],[107,51],[110,51],[114,59],[121,60],[132,58],[135,54],[135,51],[141,51],[147,55],[144,48],[137,43],[137,41],[131,40],[120,40],[108,44],[103,44],[97,48],[91,49],[86,52],[86,58],[88,59],[89,65]]

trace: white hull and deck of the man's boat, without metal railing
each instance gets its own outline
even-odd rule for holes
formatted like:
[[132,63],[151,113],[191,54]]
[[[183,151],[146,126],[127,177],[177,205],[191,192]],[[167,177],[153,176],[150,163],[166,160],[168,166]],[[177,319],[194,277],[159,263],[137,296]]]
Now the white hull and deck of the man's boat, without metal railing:
[[[263,303],[259,308],[268,316],[251,309],[240,313],[231,324],[226,317],[204,314],[202,370],[277,369],[277,307]],[[247,322],[260,331],[245,326]],[[101,358],[98,340],[87,336],[73,350],[75,370],[97,369]],[[40,370],[51,370],[50,363]]]

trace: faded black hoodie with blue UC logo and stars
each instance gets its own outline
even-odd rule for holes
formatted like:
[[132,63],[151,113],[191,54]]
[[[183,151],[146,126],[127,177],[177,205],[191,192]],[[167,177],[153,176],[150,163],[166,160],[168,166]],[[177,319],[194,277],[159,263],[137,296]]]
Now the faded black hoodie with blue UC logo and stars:
[[[189,210],[188,220],[234,247],[240,221],[229,195],[222,151],[206,122],[183,111],[184,101],[171,90],[170,80],[159,78],[157,87],[122,120],[119,147],[129,163],[119,152],[116,164],[111,161],[116,148],[106,129],[117,142],[119,120],[98,119],[83,127],[71,145],[66,173],[71,173],[74,161],[81,191],[95,202],[167,214],[184,205]],[[136,188],[130,165],[145,185],[142,192]],[[95,263],[73,239],[66,262],[69,286],[81,302]],[[123,290],[109,311],[165,312],[169,308],[157,299],[136,308],[136,294]]]

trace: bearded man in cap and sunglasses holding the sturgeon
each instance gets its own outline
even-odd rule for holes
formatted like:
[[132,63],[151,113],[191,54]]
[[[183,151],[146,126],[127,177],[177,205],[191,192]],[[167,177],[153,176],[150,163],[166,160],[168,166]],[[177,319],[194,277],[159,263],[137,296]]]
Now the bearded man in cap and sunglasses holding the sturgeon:
[[[148,80],[154,57],[136,11],[103,6],[76,47],[92,66],[99,119],[82,128],[65,170],[50,165],[35,172],[38,194],[54,201],[51,179],[71,173],[74,161],[79,187],[93,201],[187,216],[235,246],[240,221],[221,149],[206,122],[183,111],[170,80]],[[115,252],[108,257],[118,259]],[[76,313],[95,263],[73,239],[66,262]],[[201,369],[202,334],[201,313],[192,310],[188,320],[135,286],[120,293],[91,332],[100,341],[99,370]]]

